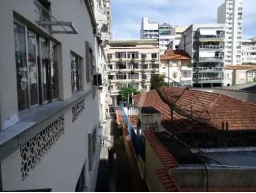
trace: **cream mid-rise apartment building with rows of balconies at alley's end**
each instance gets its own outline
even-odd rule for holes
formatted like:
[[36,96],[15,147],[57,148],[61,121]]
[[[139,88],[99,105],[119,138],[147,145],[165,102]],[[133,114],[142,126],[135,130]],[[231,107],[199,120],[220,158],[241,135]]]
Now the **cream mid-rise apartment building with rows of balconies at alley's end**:
[[131,86],[141,92],[150,90],[151,75],[159,73],[157,40],[113,40],[108,42],[109,92],[116,105],[120,90]]

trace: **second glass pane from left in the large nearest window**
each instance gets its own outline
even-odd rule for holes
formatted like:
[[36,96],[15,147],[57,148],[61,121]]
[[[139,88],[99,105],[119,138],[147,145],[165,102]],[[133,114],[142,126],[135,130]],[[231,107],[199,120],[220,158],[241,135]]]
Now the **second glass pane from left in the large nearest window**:
[[38,71],[36,60],[36,38],[35,34],[28,32],[28,57],[29,57],[29,83],[30,83],[30,104],[38,104]]

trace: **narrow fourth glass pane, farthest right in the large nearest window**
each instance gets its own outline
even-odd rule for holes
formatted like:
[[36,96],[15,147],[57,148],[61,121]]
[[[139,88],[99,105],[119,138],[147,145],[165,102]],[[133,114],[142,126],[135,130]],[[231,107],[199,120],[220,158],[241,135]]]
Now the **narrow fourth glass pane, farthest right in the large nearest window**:
[[58,60],[57,60],[57,46],[54,44],[50,45],[50,67],[52,76],[52,90],[53,99],[58,98]]

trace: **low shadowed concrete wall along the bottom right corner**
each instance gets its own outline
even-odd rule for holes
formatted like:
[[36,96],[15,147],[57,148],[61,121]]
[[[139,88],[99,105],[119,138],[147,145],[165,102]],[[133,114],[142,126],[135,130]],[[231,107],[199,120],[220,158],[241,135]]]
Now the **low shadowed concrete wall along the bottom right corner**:
[[[207,186],[206,170],[172,169],[170,171],[182,188],[201,188]],[[209,187],[255,187],[255,169],[208,169]]]

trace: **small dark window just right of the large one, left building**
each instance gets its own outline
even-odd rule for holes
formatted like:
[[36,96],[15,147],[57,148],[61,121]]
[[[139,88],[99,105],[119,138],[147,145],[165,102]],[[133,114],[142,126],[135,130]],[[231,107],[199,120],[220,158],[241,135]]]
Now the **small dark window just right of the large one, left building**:
[[80,57],[71,52],[71,90],[72,93],[82,89]]

